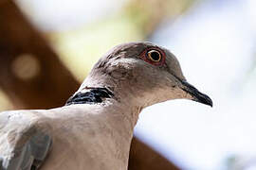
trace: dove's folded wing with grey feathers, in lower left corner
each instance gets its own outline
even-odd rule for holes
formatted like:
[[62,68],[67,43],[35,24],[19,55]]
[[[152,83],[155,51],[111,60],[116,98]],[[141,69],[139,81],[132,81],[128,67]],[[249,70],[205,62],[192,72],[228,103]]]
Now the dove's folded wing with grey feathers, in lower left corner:
[[0,113],[0,170],[36,170],[46,160],[51,137],[34,126],[29,114]]

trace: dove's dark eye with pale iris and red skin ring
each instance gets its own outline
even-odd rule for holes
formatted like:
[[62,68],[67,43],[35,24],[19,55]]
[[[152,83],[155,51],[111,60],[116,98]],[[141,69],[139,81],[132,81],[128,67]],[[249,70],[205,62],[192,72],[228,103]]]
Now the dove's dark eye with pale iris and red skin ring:
[[163,50],[157,47],[150,47],[145,49],[139,57],[144,61],[152,64],[152,65],[163,65],[165,63],[165,53]]

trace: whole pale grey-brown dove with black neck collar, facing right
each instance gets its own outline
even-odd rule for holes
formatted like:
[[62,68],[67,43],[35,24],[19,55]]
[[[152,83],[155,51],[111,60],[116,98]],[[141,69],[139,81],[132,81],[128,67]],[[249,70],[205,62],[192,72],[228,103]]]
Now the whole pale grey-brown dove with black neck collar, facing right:
[[120,44],[64,107],[0,113],[0,169],[127,169],[139,112],[176,98],[212,106],[169,50],[150,42]]

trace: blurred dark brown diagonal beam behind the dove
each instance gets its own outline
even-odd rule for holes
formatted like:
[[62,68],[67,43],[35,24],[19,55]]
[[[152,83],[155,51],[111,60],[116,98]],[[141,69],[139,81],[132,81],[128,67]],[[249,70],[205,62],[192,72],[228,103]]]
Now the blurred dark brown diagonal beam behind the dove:
[[[63,106],[79,82],[12,1],[0,2],[0,87],[17,109]],[[129,170],[178,170],[133,139]]]

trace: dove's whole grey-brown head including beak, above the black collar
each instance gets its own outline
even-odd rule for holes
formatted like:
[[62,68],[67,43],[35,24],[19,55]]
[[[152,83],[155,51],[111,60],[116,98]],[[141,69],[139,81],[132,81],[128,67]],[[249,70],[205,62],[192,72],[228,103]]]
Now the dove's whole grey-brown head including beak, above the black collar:
[[94,66],[79,92],[87,87],[106,87],[118,100],[129,99],[140,107],[176,98],[212,106],[183,76],[178,60],[163,47],[149,42],[130,42],[111,49]]

